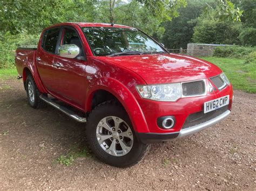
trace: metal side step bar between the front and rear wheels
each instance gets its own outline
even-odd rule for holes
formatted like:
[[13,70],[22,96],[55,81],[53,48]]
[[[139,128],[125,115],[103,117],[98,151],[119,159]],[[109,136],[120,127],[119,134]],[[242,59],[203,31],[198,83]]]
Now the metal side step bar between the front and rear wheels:
[[40,98],[42,100],[44,100],[46,103],[48,103],[49,105],[57,108],[59,111],[62,111],[63,113],[65,113],[66,115],[71,117],[72,119],[75,119],[78,122],[86,122],[86,118],[79,117],[75,112],[69,110],[68,108],[66,108],[62,105],[55,103],[55,101],[53,101],[52,99],[45,97],[44,95],[40,95]]

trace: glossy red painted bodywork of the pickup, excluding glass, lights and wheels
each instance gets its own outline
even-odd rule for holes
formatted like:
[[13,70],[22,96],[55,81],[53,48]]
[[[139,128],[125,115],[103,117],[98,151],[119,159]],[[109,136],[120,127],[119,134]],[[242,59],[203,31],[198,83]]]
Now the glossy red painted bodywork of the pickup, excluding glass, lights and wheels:
[[[61,23],[51,28],[56,26],[72,26],[77,30],[82,39],[86,61],[62,58],[45,52],[41,47],[41,35],[37,51],[17,49],[17,71],[25,81],[24,70],[30,70],[42,93],[49,93],[83,112],[91,111],[93,94],[98,90],[105,90],[122,103],[136,132],[167,133],[179,132],[189,114],[203,110],[205,101],[229,94],[229,108],[232,107],[232,85],[205,96],[180,98],[176,102],[143,99],[136,90],[136,85],[142,84],[196,79],[206,79],[208,83],[208,78],[222,72],[219,67],[209,62],[172,53],[95,57],[80,26],[112,27],[110,24]],[[130,28],[123,25],[114,27]],[[42,60],[36,61],[37,57]],[[54,62],[62,63],[63,69],[53,67]],[[166,115],[176,117],[174,128],[165,130],[157,126],[157,118]]]

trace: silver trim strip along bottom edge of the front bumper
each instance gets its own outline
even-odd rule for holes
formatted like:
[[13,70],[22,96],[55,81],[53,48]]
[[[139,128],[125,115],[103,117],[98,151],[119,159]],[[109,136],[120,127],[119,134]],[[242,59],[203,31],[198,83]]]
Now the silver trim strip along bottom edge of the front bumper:
[[181,129],[177,139],[186,137],[187,135],[191,135],[191,134],[197,133],[197,132],[199,132],[199,131],[201,131],[201,130],[203,130],[205,128],[211,127],[211,126],[217,124],[217,122],[225,119],[230,113],[231,113],[231,111],[227,110],[226,112],[224,112],[223,114],[219,115],[218,117],[215,117],[215,118],[213,118],[211,120],[203,122],[203,123],[201,123],[199,125],[194,125],[192,127]]

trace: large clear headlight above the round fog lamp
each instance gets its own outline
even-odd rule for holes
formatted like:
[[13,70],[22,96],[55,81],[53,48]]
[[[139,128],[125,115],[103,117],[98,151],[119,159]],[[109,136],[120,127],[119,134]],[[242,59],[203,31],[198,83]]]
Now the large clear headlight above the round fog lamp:
[[180,83],[136,86],[139,94],[146,99],[176,101],[181,98]]

